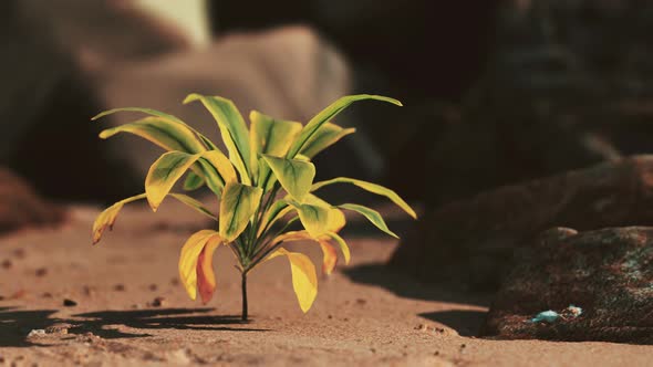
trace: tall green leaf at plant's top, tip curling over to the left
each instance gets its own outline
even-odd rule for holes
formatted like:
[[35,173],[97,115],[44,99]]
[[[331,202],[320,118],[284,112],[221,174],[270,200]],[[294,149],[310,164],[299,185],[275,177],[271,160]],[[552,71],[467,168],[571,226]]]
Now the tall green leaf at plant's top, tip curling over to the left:
[[251,185],[253,170],[250,167],[249,133],[242,115],[240,115],[234,102],[218,96],[190,94],[184,99],[184,103],[188,104],[195,101],[200,101],[214,116],[220,128],[225,146],[229,151],[229,159],[238,170],[240,180],[246,185]]

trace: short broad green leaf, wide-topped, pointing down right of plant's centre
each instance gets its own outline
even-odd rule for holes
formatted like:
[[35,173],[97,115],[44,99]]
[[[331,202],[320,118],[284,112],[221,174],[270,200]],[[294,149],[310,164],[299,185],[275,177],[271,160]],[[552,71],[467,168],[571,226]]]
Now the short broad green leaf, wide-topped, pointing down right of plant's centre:
[[294,200],[302,202],[315,177],[315,166],[310,161],[262,156],[281,187]]

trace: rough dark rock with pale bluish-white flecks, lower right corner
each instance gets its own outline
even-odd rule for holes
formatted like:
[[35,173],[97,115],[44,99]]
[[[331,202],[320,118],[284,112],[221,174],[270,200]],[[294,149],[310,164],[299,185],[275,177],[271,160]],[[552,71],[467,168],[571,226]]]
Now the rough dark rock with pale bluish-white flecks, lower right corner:
[[[652,263],[653,228],[549,230],[519,251],[481,334],[653,344]],[[531,322],[542,310],[561,316]]]

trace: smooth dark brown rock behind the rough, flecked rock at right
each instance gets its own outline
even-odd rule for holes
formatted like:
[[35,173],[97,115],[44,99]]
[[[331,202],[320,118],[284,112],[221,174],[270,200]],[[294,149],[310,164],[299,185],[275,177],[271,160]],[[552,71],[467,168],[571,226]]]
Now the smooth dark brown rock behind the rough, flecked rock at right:
[[635,156],[436,209],[421,219],[390,264],[426,282],[496,290],[514,250],[549,228],[649,224],[653,156]]

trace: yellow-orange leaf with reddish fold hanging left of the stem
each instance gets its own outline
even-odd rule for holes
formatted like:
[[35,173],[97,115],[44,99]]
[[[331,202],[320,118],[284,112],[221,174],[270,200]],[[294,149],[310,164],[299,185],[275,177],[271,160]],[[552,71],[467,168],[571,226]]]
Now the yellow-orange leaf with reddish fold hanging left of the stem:
[[[213,252],[222,239],[214,230],[201,230],[188,238],[179,255],[179,279],[191,300],[197,298],[198,283],[203,300],[208,301],[215,290],[215,275],[211,266]],[[205,251],[206,249],[206,251]],[[200,259],[200,254],[204,255]],[[201,260],[201,262],[200,262]],[[198,275],[200,280],[198,281]]]

